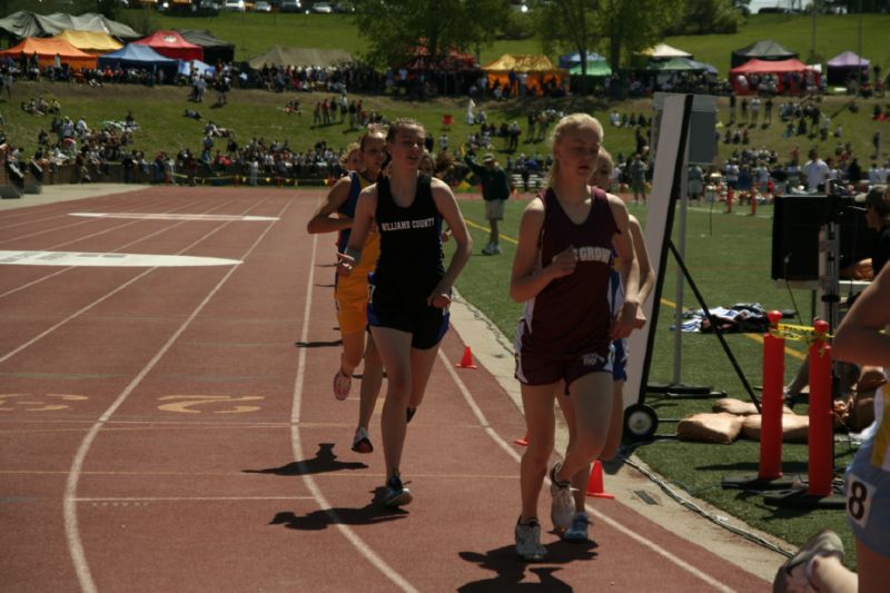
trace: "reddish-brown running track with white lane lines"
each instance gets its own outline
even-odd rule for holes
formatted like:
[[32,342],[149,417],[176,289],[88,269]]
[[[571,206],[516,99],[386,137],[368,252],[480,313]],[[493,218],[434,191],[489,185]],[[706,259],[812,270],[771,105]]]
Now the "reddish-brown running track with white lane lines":
[[[455,369],[454,332],[408,431],[415,502],[375,504],[382,454],[349,451],[357,385],[330,393],[333,236],[305,231],[320,196],[147,188],[0,213],[0,250],[241,261],[0,266],[0,590],[769,587],[615,501],[591,503],[593,542],[546,533],[547,561],[518,562],[523,418],[486,370]],[[71,216],[90,211],[275,219]]]

